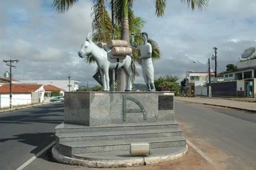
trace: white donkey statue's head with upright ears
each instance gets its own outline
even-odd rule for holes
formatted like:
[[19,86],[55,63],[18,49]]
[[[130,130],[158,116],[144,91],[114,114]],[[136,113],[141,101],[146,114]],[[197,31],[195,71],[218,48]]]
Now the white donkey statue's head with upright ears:
[[93,47],[91,46],[91,44],[93,44],[93,42],[91,41],[93,36],[92,31],[90,33],[88,33],[88,35],[86,36],[86,40],[83,42],[81,49],[78,52],[79,57],[84,58],[85,56],[89,56],[90,53],[93,50]]

